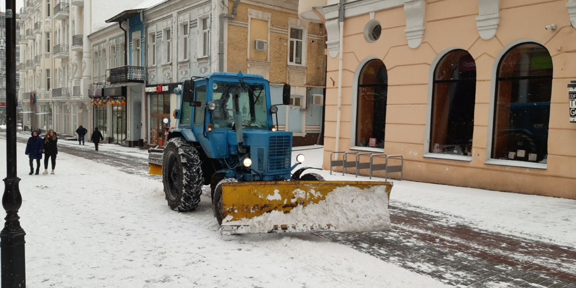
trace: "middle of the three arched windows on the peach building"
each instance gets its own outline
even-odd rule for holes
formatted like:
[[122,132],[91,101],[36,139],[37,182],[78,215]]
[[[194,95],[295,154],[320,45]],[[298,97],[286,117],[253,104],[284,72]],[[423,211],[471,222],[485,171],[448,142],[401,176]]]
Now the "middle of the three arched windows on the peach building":
[[434,70],[430,151],[472,155],[476,62],[465,50],[444,55]]

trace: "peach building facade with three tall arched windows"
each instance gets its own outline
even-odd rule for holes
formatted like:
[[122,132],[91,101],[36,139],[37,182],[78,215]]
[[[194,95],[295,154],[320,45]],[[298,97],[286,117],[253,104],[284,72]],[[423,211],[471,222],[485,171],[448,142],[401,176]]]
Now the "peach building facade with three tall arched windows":
[[401,154],[407,180],[576,199],[576,1],[342,2],[299,7],[327,29],[324,169]]

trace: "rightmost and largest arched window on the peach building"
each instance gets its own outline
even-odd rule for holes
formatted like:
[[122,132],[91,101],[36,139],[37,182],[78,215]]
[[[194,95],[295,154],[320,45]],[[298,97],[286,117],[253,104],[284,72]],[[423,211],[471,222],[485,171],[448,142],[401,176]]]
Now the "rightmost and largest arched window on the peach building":
[[552,57],[536,43],[514,46],[498,65],[492,158],[547,162]]

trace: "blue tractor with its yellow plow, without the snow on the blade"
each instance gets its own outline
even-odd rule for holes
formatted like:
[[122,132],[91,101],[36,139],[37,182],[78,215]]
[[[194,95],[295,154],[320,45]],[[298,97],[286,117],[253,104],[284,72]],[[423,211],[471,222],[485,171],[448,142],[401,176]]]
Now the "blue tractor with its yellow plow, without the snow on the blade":
[[[274,124],[278,107],[271,103],[270,83],[264,77],[214,73],[192,77],[175,93],[180,96],[176,128],[168,131],[164,149],[149,151],[150,174],[162,175],[171,209],[196,209],[203,185],[210,185],[214,214],[222,225],[275,210],[289,213],[319,202],[339,186],[317,173],[303,174],[308,167],[292,172],[304,155],[292,164],[292,133],[278,131],[277,119]],[[289,101],[290,85],[283,84],[281,105]],[[295,201],[294,191],[301,191],[297,187],[302,181],[323,195]],[[274,225],[258,232],[272,229]]]

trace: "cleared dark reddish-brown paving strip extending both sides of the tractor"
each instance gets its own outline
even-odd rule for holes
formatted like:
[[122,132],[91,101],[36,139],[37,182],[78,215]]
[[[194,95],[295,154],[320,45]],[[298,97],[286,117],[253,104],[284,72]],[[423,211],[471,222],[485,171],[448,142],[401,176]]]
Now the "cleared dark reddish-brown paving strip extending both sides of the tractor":
[[[160,180],[147,174],[143,158],[73,145],[58,149]],[[576,249],[458,225],[446,220],[449,215],[403,206],[391,202],[389,232],[314,234],[455,287],[576,288]]]

